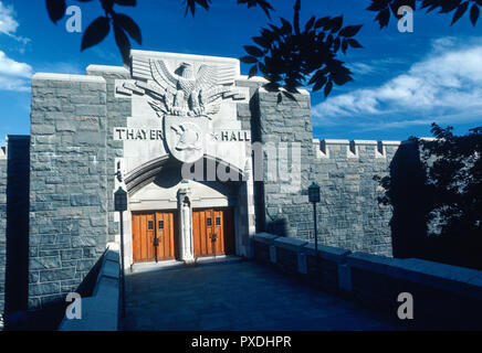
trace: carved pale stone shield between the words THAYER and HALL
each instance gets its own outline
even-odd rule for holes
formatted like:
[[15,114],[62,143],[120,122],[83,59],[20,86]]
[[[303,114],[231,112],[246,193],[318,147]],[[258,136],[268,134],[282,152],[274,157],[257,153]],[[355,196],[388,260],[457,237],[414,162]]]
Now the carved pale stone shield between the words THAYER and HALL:
[[164,117],[164,131],[170,154],[185,163],[193,163],[205,156],[205,128],[208,118]]

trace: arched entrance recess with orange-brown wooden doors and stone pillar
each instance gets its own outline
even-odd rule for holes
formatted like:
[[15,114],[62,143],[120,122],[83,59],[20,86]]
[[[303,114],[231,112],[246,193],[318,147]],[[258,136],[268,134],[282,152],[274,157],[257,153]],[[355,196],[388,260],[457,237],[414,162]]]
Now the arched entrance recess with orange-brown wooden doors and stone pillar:
[[126,265],[249,256],[254,215],[249,207],[247,172],[208,156],[201,164],[226,168],[238,176],[220,181],[203,172],[197,178],[182,178],[182,163],[169,157],[149,161],[126,175]]

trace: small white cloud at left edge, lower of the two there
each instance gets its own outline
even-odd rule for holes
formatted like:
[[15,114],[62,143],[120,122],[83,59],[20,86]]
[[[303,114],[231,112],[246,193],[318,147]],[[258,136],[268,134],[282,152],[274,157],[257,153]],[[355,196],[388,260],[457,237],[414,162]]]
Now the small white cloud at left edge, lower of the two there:
[[32,76],[32,67],[25,63],[19,63],[0,51],[0,89],[1,90],[29,90],[29,78]]

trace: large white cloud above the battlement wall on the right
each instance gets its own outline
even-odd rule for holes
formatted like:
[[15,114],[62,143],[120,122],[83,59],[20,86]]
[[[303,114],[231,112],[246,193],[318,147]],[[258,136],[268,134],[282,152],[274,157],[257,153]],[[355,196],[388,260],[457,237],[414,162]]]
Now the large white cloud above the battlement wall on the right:
[[329,97],[313,108],[313,115],[315,125],[348,118],[375,126],[383,117],[392,119],[379,126],[395,128],[436,118],[451,124],[464,115],[482,120],[475,108],[482,108],[482,43],[479,39],[460,46],[453,38],[444,38],[434,41],[431,53],[407,73],[377,87]]

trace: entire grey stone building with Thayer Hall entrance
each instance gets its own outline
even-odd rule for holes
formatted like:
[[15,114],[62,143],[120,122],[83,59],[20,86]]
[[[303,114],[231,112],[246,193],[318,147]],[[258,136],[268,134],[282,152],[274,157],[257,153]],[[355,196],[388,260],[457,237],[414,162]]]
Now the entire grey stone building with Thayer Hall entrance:
[[262,231],[313,238],[313,181],[322,243],[390,256],[391,211],[373,178],[387,174],[400,142],[314,140],[310,94],[263,84],[238,60],[145,51],[132,52],[129,68],[35,74],[31,135],[0,151],[0,311],[8,258],[23,261],[11,276],[24,282],[7,297],[24,291],[29,308],[77,288],[120,242],[119,188],[126,267],[250,257]]

